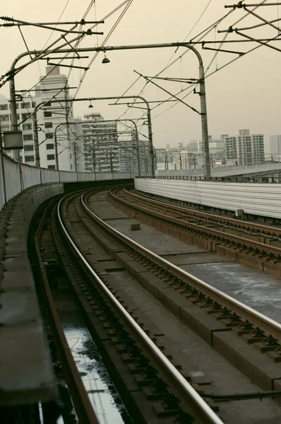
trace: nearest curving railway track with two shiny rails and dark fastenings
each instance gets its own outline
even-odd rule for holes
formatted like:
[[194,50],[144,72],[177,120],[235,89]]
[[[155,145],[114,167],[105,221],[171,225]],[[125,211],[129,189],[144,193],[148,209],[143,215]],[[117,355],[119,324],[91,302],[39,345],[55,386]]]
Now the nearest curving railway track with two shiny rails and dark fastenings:
[[[142,404],[145,401],[145,409],[153,411],[156,419],[159,422],[163,420],[165,424],[189,423],[193,418],[198,423],[222,423],[212,410],[217,411],[218,403],[223,419],[225,409],[222,402],[267,397],[279,399],[281,391],[278,384],[273,382],[277,382],[277,373],[280,372],[281,325],[121,234],[92,212],[91,199],[92,193],[87,192],[83,196],[71,194],[60,201],[57,206],[58,223],[68,247],[66,249],[66,242],[61,241],[57,249],[64,266],[70,275],[72,273],[70,280],[77,302],[84,310],[85,317],[90,317],[88,325],[91,334],[97,336],[96,333],[100,331],[103,339],[110,339],[110,348],[107,345],[104,351],[104,355],[110,357],[107,358],[109,363],[113,364],[116,355],[121,355],[122,364],[117,361],[120,368],[117,380],[130,380],[128,369],[130,375],[134,376],[140,398],[133,399],[133,402],[130,399],[127,406],[129,412],[135,410],[138,415],[141,409],[139,402]],[[104,199],[103,195],[102,201]],[[179,214],[179,211],[176,213]],[[59,230],[54,227],[54,219],[52,227],[56,240],[60,236]],[[81,232],[81,228],[84,228],[84,232]],[[100,259],[95,256],[95,243],[107,252]],[[56,240],[56,245],[59,245],[59,240]],[[114,261],[112,275],[103,266],[105,263],[108,266],[109,260]],[[165,345],[165,334],[159,329],[151,330],[150,323],[145,322],[141,311],[138,312],[138,305],[134,307],[131,300],[128,302],[126,290],[123,293],[114,280],[113,271],[118,273],[119,269],[122,272],[126,269],[137,278],[157,301],[162,302],[177,319],[214,348],[215,334],[230,336],[230,347],[224,346],[222,349],[225,357],[249,375],[251,381],[262,387],[263,391],[241,389],[222,394],[214,390],[210,393],[210,386],[204,385],[209,383],[196,384],[196,379],[190,377],[186,367],[179,366],[184,362],[175,360],[171,355],[170,346]],[[235,352],[231,346],[233,342]],[[102,345],[100,348],[102,350]],[[173,354],[174,349],[173,346]],[[249,355],[252,357],[249,358]],[[261,363],[265,366],[258,368]],[[266,367],[270,367],[270,375]],[[122,390],[124,398],[131,398],[131,394],[128,396]],[[148,416],[141,419],[136,422],[145,423]]]

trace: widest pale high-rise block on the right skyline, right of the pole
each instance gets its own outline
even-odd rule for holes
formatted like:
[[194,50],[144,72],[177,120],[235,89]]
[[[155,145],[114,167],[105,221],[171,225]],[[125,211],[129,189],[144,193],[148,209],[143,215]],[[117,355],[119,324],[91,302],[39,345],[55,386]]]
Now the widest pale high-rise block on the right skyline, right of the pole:
[[250,134],[249,129],[240,129],[238,136],[224,134],[225,153],[234,165],[259,165],[265,163],[263,134]]

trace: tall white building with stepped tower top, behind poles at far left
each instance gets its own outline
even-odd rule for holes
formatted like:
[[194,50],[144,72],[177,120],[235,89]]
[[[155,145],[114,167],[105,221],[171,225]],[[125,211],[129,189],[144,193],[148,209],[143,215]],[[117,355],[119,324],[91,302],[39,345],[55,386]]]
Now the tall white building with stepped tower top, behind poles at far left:
[[[23,131],[23,150],[20,151],[20,161],[23,163],[35,165],[34,128],[30,115],[34,112],[36,105],[52,99],[69,100],[67,78],[59,73],[59,66],[56,68],[47,66],[46,76],[42,76],[40,83],[35,87],[35,97],[18,96],[16,110],[18,129]],[[59,169],[75,170],[73,145],[76,138],[76,126],[64,125],[67,121],[73,122],[73,112],[69,102],[52,103],[49,107],[45,105],[44,109],[37,111],[36,118],[40,165],[49,169],[56,168],[54,149],[54,133],[56,131]],[[9,131],[11,129],[11,110],[8,99],[0,100],[0,120],[1,131]],[[59,125],[61,125],[61,129],[57,129]],[[12,151],[6,151],[6,153],[13,156]]]

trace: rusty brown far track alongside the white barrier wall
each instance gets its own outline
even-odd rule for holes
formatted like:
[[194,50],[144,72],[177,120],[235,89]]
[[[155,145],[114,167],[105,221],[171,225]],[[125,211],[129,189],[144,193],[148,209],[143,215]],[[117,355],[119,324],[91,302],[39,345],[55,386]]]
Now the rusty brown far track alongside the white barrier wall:
[[115,189],[110,194],[118,207],[131,210],[136,218],[143,216],[145,222],[162,231],[211,252],[224,254],[242,264],[280,276],[279,228],[173,206],[133,194],[126,189]]

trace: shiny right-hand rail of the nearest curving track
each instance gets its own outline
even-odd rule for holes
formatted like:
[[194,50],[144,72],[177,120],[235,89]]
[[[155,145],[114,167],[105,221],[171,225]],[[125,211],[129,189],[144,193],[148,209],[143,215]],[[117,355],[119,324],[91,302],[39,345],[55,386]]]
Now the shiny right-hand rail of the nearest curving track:
[[120,240],[126,242],[127,245],[129,245],[130,247],[133,247],[133,249],[135,249],[137,252],[140,252],[140,254],[145,255],[145,257],[148,257],[150,260],[154,261],[156,264],[162,266],[163,269],[166,269],[167,271],[172,272],[175,276],[186,281],[191,286],[196,288],[196,290],[201,291],[203,294],[205,294],[209,298],[212,298],[213,300],[217,301],[223,307],[227,307],[227,309],[232,310],[232,312],[235,312],[237,315],[239,315],[243,319],[248,319],[249,322],[251,322],[251,324],[259,327],[260,329],[265,331],[267,334],[271,334],[277,340],[281,341],[281,324],[279,322],[276,322],[273,319],[266,317],[265,315],[261,314],[261,312],[253,310],[253,308],[244,305],[244,303],[239,302],[239,300],[232,298],[226,293],[223,293],[221,290],[218,290],[212,285],[205,283],[205,281],[202,281],[199,278],[196,278],[195,276],[184,271],[183,269],[180,269],[178,266],[172,264],[166,259],[163,259],[162,257],[158,256],[154,252],[151,252],[146,247],[139,245],[137,242],[131,240],[129,237],[122,234],[121,232],[113,228],[111,225],[105,223],[101,218],[99,218],[95,213],[93,213],[83,201],[83,196],[81,201],[85,211],[90,216],[92,216],[92,218],[94,218],[97,221],[97,223],[100,223],[102,227],[106,228],[107,230],[109,230],[109,232],[116,235],[116,237],[118,237]]

